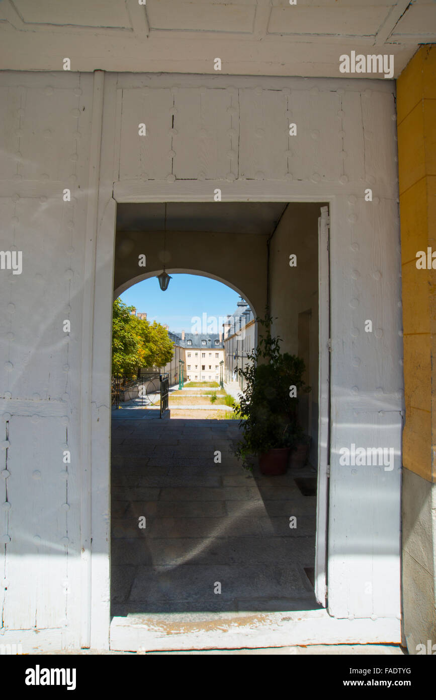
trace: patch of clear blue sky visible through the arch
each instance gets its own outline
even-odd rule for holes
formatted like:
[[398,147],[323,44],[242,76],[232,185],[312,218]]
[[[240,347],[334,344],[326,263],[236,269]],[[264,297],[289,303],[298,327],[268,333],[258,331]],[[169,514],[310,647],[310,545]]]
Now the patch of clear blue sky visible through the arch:
[[[146,311],[147,321],[168,323],[170,330],[192,332],[194,316],[203,318],[233,314],[238,293],[215,279],[194,274],[172,274],[166,292],[162,292],[156,277],[150,277],[130,287],[122,295],[125,304]],[[195,330],[195,329],[194,329]],[[222,330],[218,328],[218,332]],[[205,329],[206,332],[206,329]]]

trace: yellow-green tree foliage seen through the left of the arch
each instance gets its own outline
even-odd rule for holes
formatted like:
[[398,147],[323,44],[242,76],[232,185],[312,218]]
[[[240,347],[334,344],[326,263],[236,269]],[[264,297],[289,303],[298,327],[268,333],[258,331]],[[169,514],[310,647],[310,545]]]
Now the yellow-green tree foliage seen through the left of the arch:
[[160,323],[132,316],[134,307],[121,299],[112,310],[112,374],[133,377],[138,367],[164,367],[173,359],[174,344]]

